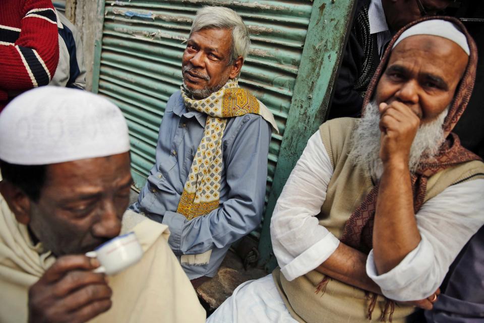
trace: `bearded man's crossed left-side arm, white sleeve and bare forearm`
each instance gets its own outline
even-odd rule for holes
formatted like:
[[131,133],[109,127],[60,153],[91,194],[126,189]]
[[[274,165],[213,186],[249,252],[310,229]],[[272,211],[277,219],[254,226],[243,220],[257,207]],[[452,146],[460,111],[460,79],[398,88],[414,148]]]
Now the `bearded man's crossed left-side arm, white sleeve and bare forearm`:
[[381,293],[367,276],[367,255],[353,249],[319,224],[333,167],[317,131],[292,170],[271,220],[274,254],[291,281],[317,270],[348,285]]

